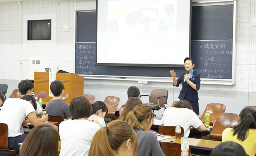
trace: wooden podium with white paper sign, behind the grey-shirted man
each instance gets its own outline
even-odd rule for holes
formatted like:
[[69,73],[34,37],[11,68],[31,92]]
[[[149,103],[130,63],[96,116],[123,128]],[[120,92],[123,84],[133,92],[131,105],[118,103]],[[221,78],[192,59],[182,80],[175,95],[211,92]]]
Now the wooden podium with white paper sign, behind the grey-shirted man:
[[[84,94],[84,78],[73,73],[56,73],[56,80],[61,80],[64,84],[65,93],[68,93],[67,103],[70,104],[72,98]],[[34,92],[44,91],[47,93],[43,104],[47,104],[53,97],[49,97],[49,73],[34,72]]]

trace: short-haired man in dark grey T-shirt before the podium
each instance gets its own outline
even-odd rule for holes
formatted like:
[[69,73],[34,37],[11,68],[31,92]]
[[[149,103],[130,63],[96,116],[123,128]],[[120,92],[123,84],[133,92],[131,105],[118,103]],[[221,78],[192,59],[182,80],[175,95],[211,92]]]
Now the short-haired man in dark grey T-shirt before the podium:
[[62,116],[64,119],[72,119],[68,112],[68,103],[62,101],[64,94],[64,84],[60,80],[55,80],[50,85],[50,90],[54,97],[46,104],[45,111],[51,116]]

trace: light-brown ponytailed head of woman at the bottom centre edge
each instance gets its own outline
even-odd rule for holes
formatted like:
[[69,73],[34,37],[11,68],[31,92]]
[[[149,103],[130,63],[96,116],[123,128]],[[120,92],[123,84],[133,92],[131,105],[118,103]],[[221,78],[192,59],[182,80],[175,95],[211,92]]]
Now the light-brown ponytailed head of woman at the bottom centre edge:
[[138,138],[132,127],[114,120],[96,132],[88,156],[137,156],[137,152]]

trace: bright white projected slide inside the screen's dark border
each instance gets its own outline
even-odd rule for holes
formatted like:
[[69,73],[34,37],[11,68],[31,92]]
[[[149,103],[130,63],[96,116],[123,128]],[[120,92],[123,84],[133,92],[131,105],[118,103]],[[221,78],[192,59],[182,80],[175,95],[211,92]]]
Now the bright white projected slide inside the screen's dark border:
[[184,64],[190,0],[98,0],[97,64]]

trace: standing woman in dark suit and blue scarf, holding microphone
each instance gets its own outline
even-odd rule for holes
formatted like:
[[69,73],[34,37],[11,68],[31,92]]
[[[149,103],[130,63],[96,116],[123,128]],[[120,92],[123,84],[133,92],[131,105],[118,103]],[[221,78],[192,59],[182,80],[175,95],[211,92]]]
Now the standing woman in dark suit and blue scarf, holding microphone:
[[176,72],[171,70],[173,86],[178,87],[182,83],[182,89],[180,90],[179,99],[188,100],[193,107],[193,111],[199,114],[198,107],[198,90],[200,88],[200,74],[193,70],[195,61],[193,58],[187,57],[184,59],[185,69],[187,72],[183,72],[176,80]]

